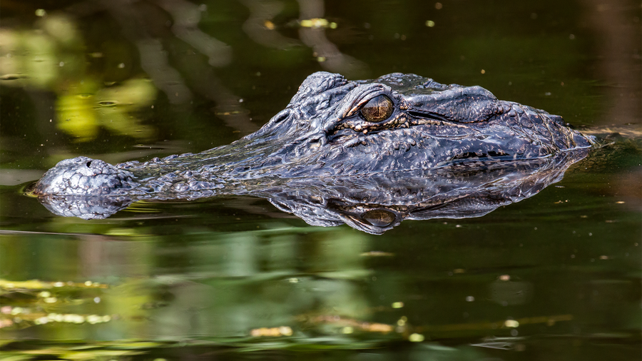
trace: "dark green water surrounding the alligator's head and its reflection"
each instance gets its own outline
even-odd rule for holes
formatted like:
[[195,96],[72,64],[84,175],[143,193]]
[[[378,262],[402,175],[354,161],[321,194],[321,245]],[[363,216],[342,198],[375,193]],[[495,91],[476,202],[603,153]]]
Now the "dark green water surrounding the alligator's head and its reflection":
[[[300,2],[2,1],[3,355],[639,360],[639,2]],[[250,197],[81,220],[23,195],[64,158],[230,143],[320,70],[476,84],[623,136],[520,203],[381,236]]]

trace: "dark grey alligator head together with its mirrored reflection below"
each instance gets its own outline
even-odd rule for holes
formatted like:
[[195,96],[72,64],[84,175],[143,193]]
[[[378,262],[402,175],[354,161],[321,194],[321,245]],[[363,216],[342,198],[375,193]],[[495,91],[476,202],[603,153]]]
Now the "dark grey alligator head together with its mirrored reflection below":
[[[136,200],[256,195],[295,214],[300,207],[287,205],[292,199],[338,201],[344,210],[360,208],[365,218],[335,216],[324,223],[303,215],[319,210],[297,215],[310,224],[349,223],[382,233],[377,224],[389,229],[419,209],[441,209],[453,199],[462,203],[477,194],[479,200],[484,192],[492,193],[486,198],[493,204],[523,199],[536,193],[525,188],[539,191],[558,181],[595,145],[593,136],[560,116],[501,101],[480,86],[402,73],[347,81],[317,72],[263,128],[227,146],[115,166],[83,156],[67,159],[47,171],[32,193],[56,214],[86,219],[108,217]],[[498,173],[502,169],[513,176]],[[516,185],[518,179],[529,186]],[[446,190],[440,190],[442,183]],[[477,211],[470,214],[486,209],[483,202],[472,203]]]

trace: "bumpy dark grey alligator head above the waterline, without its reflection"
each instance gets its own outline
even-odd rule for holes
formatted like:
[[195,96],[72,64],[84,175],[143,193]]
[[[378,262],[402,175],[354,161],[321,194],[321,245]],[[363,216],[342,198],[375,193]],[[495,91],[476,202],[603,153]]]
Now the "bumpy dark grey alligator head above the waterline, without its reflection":
[[[379,108],[372,111],[374,106]],[[68,159],[51,168],[34,193],[49,200],[75,197],[68,205],[74,210],[66,212],[75,215],[82,208],[78,197],[117,197],[120,207],[125,198],[273,193],[283,190],[287,179],[312,185],[324,177],[358,183],[359,177],[391,172],[479,171],[556,158],[593,143],[561,117],[500,101],[479,86],[444,85],[401,73],[347,81],[319,72],[263,128],[228,146],[115,166],[86,157]],[[386,191],[377,196],[384,199]],[[98,203],[91,203],[96,218]]]

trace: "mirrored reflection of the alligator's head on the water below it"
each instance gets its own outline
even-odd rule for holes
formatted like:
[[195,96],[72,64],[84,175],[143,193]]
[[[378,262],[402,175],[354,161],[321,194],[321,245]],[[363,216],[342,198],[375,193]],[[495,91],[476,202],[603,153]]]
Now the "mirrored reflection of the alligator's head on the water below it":
[[[267,198],[280,210],[297,215],[310,225],[330,227],[346,223],[367,233],[382,234],[402,220],[480,217],[501,205],[519,202],[561,180],[564,171],[587,153],[578,150],[549,158],[479,165],[459,163],[370,176],[270,178],[248,181],[235,189],[183,194],[181,198],[253,195]],[[43,195],[39,200],[57,215],[96,219],[146,198]]]

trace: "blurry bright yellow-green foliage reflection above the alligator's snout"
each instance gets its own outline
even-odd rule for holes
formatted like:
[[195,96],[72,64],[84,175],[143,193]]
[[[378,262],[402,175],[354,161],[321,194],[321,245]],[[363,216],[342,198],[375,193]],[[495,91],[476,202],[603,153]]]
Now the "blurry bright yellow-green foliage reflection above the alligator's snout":
[[[36,29],[0,29],[0,83],[56,94],[56,126],[75,141],[91,141],[101,128],[138,139],[154,129],[136,111],[151,106],[156,88],[143,78],[113,86],[87,69],[85,45],[68,16],[44,16]],[[118,67],[118,66],[117,66]],[[121,66],[122,67],[122,66]]]

